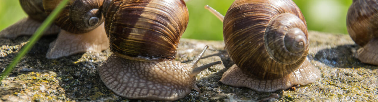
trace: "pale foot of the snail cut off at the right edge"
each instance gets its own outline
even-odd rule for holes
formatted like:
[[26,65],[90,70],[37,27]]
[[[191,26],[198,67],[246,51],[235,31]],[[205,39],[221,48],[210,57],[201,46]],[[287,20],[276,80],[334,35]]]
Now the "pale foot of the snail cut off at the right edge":
[[364,63],[378,65],[378,38],[373,38],[357,50],[357,58]]

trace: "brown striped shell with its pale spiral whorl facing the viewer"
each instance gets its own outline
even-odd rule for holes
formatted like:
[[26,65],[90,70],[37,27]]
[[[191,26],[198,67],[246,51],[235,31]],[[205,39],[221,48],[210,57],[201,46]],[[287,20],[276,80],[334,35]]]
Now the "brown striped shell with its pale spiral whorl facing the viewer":
[[258,79],[277,79],[305,61],[309,40],[302,12],[291,0],[235,0],[223,22],[227,52]]

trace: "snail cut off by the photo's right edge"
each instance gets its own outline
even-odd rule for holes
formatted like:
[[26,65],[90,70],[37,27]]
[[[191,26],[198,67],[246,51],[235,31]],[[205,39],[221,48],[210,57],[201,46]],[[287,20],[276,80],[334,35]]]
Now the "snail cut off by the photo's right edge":
[[359,46],[357,58],[378,65],[378,0],[353,0],[347,13],[347,30]]

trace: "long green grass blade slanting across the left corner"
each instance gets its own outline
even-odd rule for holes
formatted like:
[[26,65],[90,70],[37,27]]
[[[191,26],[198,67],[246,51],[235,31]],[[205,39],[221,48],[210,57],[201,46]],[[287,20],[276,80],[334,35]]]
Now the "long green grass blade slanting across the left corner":
[[5,78],[6,75],[8,75],[15,65],[17,65],[20,60],[23,58],[23,56],[26,55],[26,53],[29,52],[29,50],[34,46],[34,44],[39,40],[39,38],[42,36],[42,33],[46,31],[46,28],[50,27],[50,25],[54,22],[56,16],[60,13],[60,11],[63,10],[65,5],[68,3],[68,0],[62,0],[60,4],[54,9],[53,12],[46,18],[45,21],[41,24],[41,26],[36,30],[36,32],[31,36],[28,43],[25,44],[25,46],[22,47],[22,49],[17,53],[11,64],[8,65],[8,67],[4,70],[4,72],[0,76],[0,82]]

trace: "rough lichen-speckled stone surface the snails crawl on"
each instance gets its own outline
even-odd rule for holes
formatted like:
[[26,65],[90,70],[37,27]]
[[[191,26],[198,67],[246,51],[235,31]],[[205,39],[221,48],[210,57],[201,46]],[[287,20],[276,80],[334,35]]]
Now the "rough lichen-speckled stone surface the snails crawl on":
[[[46,59],[48,44],[56,36],[42,37],[0,84],[0,101],[136,101],[119,97],[102,83],[96,67],[109,50],[86,52],[59,59]],[[0,72],[3,72],[27,36],[0,38]],[[177,61],[189,62],[208,44],[198,65],[222,60],[197,75],[195,90],[177,101],[378,101],[378,67],[356,59],[356,45],[349,35],[310,31],[310,62],[318,67],[321,78],[313,84],[275,92],[257,92],[219,82],[234,62],[228,57],[223,41],[181,39]],[[278,98],[275,97],[278,94]],[[268,98],[267,98],[268,97]],[[144,100],[141,100],[144,101]]]

